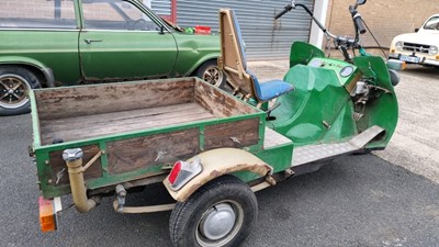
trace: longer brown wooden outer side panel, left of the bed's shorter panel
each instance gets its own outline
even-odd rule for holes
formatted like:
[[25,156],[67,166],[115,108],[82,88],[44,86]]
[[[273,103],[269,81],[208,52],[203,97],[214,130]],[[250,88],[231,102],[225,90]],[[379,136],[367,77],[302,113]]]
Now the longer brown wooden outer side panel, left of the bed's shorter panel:
[[108,143],[109,172],[116,175],[188,159],[200,153],[199,138],[199,128],[190,128]]

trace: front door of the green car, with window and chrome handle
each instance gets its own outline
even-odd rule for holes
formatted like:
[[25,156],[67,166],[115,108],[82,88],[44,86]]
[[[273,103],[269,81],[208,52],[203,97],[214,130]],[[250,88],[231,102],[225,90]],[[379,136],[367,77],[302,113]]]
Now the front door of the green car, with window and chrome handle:
[[79,37],[87,81],[167,77],[177,60],[175,37],[125,0],[82,0]]

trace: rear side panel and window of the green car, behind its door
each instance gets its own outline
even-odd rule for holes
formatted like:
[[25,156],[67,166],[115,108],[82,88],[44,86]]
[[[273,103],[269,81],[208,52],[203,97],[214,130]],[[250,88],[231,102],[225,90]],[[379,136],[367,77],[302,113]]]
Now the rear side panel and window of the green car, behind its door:
[[52,71],[56,85],[77,82],[80,71],[76,9],[76,1],[1,0],[0,60]]

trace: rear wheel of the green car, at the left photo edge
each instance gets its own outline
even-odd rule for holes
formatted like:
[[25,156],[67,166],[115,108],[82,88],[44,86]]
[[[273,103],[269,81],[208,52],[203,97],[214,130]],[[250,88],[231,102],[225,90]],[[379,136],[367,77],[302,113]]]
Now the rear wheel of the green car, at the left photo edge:
[[38,79],[27,69],[0,66],[0,115],[31,112],[29,92],[41,88]]

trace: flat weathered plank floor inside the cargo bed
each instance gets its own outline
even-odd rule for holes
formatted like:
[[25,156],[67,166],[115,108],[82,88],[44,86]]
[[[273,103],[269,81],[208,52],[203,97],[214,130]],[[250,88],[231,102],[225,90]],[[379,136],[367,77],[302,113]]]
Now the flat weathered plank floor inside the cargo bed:
[[196,103],[111,112],[97,115],[42,121],[42,145],[140,131],[153,127],[212,120],[215,116]]

